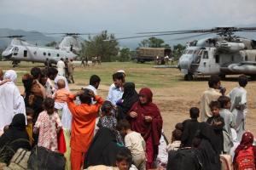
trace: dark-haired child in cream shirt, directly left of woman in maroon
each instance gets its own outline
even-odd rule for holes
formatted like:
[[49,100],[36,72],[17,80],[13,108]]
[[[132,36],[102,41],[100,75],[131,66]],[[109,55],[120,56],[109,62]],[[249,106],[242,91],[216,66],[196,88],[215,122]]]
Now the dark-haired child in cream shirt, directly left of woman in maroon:
[[119,121],[119,131],[125,136],[125,146],[131,150],[132,161],[139,170],[146,169],[146,144],[140,133],[131,130],[131,125],[128,121]]

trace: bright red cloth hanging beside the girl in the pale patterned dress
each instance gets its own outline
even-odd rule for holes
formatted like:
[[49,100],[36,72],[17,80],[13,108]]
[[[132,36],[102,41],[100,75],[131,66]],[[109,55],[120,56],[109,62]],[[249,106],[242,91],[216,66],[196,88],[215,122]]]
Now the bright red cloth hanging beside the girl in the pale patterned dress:
[[81,170],[81,167],[84,165],[84,155],[84,152],[71,149],[70,160],[72,170]]

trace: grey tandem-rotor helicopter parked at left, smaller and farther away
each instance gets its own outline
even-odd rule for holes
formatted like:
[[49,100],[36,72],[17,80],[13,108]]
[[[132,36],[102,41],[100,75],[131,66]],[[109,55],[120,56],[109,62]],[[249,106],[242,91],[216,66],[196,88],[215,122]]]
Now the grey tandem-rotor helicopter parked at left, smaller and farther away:
[[62,38],[62,41],[57,48],[40,47],[38,45],[33,45],[21,39],[24,36],[20,35],[7,36],[9,38],[12,38],[12,41],[10,42],[8,48],[6,48],[2,53],[3,59],[11,60],[13,67],[17,66],[20,61],[44,63],[46,59],[49,59],[50,64],[56,64],[61,58],[76,59],[79,51],[81,50],[81,45],[78,41],[78,36],[80,34],[61,34],[65,34],[65,37]]

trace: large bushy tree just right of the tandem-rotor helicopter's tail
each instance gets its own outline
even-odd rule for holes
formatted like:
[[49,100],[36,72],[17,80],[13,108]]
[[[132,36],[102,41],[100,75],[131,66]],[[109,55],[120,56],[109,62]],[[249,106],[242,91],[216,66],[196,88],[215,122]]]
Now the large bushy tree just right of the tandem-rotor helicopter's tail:
[[119,43],[115,40],[114,35],[108,35],[107,31],[95,37],[89,37],[84,41],[82,46],[82,55],[88,57],[101,56],[102,61],[111,61],[112,56],[119,53]]

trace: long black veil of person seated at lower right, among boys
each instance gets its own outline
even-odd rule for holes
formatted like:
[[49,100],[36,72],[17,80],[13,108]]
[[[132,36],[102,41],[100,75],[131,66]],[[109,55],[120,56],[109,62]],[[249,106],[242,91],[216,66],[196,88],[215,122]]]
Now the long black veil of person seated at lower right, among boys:
[[213,128],[206,122],[201,122],[196,138],[201,142],[198,150],[201,154],[202,170],[220,169],[218,156],[218,138]]

